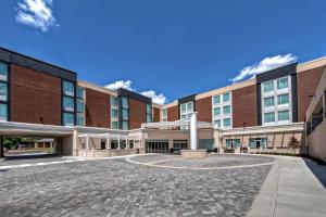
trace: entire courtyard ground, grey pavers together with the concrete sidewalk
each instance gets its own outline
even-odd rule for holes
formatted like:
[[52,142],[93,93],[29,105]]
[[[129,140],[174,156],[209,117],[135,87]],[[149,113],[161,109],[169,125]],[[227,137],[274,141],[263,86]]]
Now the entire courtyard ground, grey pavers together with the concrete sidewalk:
[[0,216],[321,216],[325,174],[244,154],[2,161]]

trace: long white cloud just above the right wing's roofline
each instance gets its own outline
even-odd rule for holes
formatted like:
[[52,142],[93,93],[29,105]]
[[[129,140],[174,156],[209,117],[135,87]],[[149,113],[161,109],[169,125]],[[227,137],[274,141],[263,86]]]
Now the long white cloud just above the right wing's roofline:
[[262,60],[260,63],[247,66],[242,68],[242,71],[233,79],[233,82],[238,82],[248,77],[254,77],[256,74],[261,74],[273,68],[277,68],[290,63],[293,63],[298,60],[296,55],[292,53],[288,53],[286,55],[275,55],[268,56]]

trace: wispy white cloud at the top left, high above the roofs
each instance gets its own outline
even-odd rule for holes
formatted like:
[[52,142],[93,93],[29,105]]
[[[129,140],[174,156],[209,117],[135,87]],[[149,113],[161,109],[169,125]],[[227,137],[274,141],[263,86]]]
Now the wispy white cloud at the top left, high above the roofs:
[[22,0],[17,4],[16,22],[48,31],[52,26],[59,26],[53,16],[52,0]]

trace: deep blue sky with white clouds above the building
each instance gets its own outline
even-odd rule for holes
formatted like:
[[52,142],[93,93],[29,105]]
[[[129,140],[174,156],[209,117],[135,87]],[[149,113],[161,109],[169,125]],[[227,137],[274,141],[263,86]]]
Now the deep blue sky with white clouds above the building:
[[326,55],[325,8],[324,0],[7,0],[0,46],[171,102],[229,85],[241,71],[247,78],[260,66]]

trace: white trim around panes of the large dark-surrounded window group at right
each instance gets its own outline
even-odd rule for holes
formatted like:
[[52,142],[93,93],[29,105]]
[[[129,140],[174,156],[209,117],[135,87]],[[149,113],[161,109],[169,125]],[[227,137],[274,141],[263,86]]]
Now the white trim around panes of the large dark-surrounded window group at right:
[[[288,87],[284,89],[277,89],[277,80],[283,78],[288,78]],[[269,81],[269,80],[268,80]],[[265,82],[268,82],[265,81]],[[261,112],[262,112],[262,126],[273,126],[273,125],[283,125],[292,123],[292,87],[291,87],[291,76],[285,76],[280,78],[276,78],[273,80],[274,90],[269,92],[264,92],[264,82],[261,85]],[[289,103],[288,104],[278,104],[277,95],[279,94],[289,94]],[[274,106],[264,106],[264,98],[273,97],[274,98]],[[289,111],[289,120],[278,120],[278,111]],[[264,113],[274,112],[275,122],[265,123]]]

